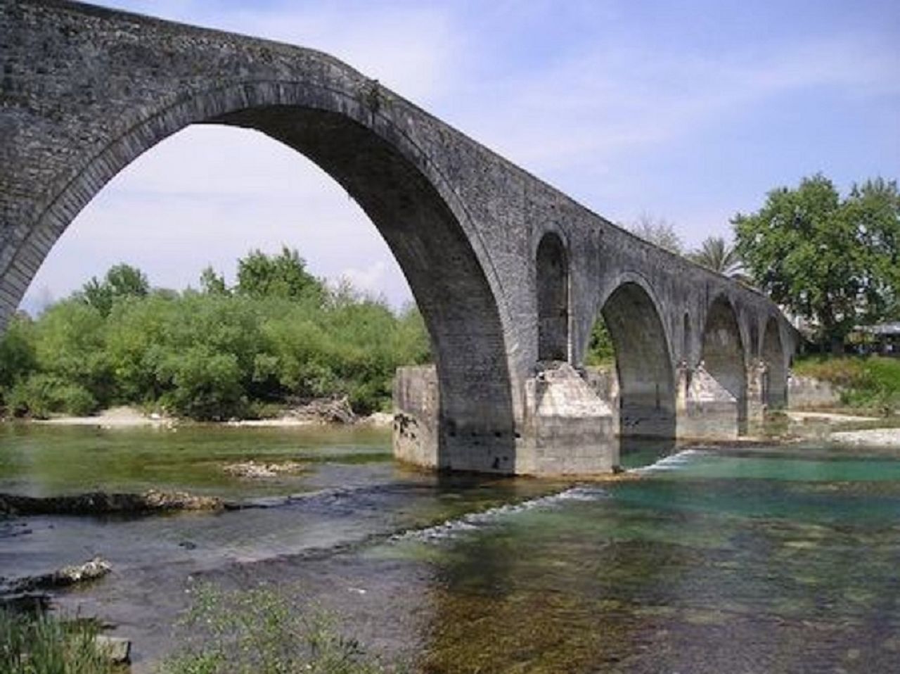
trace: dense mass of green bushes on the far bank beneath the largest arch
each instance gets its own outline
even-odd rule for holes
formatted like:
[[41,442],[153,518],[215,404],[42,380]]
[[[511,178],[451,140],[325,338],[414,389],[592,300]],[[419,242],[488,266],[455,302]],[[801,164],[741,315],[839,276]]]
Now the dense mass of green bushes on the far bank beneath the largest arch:
[[346,284],[329,290],[295,251],[251,253],[235,288],[207,269],[204,292],[148,291],[138,269],[116,269],[39,319],[11,323],[0,341],[8,412],[123,404],[217,420],[347,396],[368,414],[390,405],[399,366],[430,358],[415,308],[396,314]]

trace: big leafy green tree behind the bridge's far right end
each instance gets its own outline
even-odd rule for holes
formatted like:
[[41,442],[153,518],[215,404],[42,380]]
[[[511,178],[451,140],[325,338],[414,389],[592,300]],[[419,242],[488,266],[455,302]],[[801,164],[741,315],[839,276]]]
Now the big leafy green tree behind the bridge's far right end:
[[816,174],[772,190],[755,214],[732,220],[737,250],[759,286],[842,351],[858,323],[883,320],[900,298],[900,193],[881,178],[842,199]]

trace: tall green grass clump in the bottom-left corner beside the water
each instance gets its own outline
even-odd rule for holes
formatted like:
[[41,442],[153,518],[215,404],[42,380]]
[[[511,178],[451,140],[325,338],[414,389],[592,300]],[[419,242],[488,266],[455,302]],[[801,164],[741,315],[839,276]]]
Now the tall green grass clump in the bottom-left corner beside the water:
[[90,621],[0,609],[0,672],[112,674],[117,669],[97,650],[96,634]]

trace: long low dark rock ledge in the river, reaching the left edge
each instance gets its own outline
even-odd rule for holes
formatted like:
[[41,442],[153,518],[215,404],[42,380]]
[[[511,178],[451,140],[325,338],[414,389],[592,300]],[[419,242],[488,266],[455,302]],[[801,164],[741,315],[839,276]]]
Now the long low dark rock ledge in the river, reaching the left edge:
[[221,510],[215,496],[150,489],[143,494],[109,494],[103,491],[74,496],[16,496],[0,494],[0,514],[5,515],[147,515],[175,510]]

